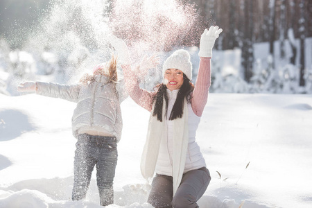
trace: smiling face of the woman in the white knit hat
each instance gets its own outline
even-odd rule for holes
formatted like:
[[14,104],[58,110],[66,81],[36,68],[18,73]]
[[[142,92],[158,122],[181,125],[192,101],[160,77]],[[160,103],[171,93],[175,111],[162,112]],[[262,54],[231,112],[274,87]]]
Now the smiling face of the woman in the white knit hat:
[[179,69],[167,69],[164,74],[164,81],[170,91],[180,89],[183,84],[183,72]]

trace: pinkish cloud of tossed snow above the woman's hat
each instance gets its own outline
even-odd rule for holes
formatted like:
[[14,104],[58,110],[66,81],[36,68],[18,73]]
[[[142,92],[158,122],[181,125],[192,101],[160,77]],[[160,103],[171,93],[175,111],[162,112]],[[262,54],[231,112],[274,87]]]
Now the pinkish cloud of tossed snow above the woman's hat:
[[117,0],[110,26],[137,53],[168,51],[196,33],[196,10],[174,0]]

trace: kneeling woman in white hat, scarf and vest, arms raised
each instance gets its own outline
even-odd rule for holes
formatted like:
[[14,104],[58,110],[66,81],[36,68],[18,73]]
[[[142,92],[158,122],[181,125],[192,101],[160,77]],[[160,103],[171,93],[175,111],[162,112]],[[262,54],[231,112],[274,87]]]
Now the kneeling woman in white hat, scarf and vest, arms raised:
[[[198,207],[196,202],[210,182],[195,137],[211,83],[212,48],[221,32],[218,26],[211,26],[200,38],[196,87],[191,83],[190,55],[182,49],[164,62],[164,81],[155,87],[155,92],[139,87],[130,64],[122,66],[131,98],[150,112],[141,173],[147,180],[156,173],[148,196],[153,207]],[[130,63],[127,46],[122,41],[119,50],[125,51],[125,59]]]

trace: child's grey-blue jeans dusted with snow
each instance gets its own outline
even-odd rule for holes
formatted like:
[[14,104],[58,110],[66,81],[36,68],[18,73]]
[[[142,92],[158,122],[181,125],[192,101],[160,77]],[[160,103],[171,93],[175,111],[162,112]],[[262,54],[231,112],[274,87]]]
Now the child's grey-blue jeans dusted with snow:
[[92,171],[96,166],[96,183],[100,205],[114,203],[113,181],[117,164],[115,137],[78,135],[73,164],[72,200],[81,200],[87,195]]

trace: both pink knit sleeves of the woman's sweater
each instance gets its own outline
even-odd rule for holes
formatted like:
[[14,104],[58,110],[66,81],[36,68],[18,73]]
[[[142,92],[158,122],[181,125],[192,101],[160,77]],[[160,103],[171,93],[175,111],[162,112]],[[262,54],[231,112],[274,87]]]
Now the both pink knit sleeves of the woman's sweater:
[[[210,57],[200,57],[198,76],[191,98],[191,107],[197,116],[202,116],[208,99],[209,87],[211,85],[210,60]],[[139,81],[137,80],[135,71],[132,71],[130,65],[123,65],[122,68],[125,78],[125,88],[128,90],[130,97],[135,103],[150,112],[156,92],[148,92],[146,89],[139,87]]]

